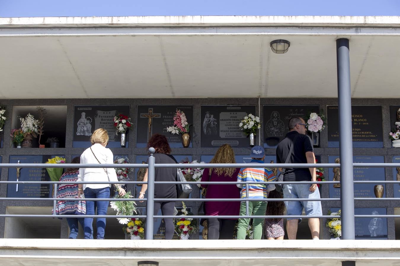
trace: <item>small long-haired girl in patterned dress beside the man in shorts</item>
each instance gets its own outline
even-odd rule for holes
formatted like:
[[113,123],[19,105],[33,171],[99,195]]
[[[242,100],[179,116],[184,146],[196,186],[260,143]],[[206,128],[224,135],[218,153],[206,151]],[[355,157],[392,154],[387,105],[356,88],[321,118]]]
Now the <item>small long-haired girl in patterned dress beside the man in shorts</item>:
[[[272,190],[268,194],[268,199],[282,199],[282,193]],[[285,204],[283,201],[268,201],[266,215],[283,215],[284,211]],[[283,239],[284,235],[283,218],[265,219],[265,237],[267,239]]]

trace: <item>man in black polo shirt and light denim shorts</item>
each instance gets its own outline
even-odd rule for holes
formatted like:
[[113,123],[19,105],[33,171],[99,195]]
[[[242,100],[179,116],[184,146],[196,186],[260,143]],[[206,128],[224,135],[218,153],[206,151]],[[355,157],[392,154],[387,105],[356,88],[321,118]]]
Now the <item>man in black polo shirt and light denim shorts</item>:
[[[293,144],[293,152],[288,164],[315,164],[314,149],[311,139],[306,135],[306,123],[300,117],[289,120],[289,130],[285,138],[276,148],[276,162],[283,164]],[[293,142],[294,140],[294,142]],[[282,168],[279,169],[282,171]],[[286,168],[283,181],[292,181],[293,184],[283,185],[284,198],[320,199],[320,192],[316,184],[296,184],[295,181],[316,181],[315,168]],[[303,208],[308,216],[322,215],[321,201],[285,201],[288,215],[302,215]],[[288,218],[286,231],[289,239],[296,239],[298,218]],[[309,218],[312,239],[319,239],[320,219]]]

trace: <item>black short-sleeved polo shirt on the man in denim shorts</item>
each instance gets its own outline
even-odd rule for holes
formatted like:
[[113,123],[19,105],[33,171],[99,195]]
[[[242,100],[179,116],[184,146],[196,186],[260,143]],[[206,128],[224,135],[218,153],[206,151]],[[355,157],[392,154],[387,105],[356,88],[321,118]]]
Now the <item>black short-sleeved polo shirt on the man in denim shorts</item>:
[[[289,154],[290,145],[293,143],[295,136],[298,136],[293,144],[292,156],[290,156],[288,164],[307,164],[306,152],[314,152],[311,139],[309,136],[300,134],[297,131],[290,131],[285,138],[279,142],[276,148],[276,163],[284,164]],[[311,173],[309,168],[286,168],[283,181],[311,181]]]

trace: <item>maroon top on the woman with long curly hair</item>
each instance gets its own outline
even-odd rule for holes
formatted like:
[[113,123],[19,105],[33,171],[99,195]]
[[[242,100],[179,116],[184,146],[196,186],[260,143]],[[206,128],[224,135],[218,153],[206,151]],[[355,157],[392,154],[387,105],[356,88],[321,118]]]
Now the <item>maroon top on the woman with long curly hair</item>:
[[[236,168],[232,176],[217,175],[215,171],[212,172],[211,176],[208,175],[209,168],[205,168],[202,182],[236,182],[240,168]],[[208,180],[210,179],[210,180]],[[202,187],[207,189],[207,199],[240,199],[239,189],[236,184],[224,185],[215,184],[207,185],[202,184]],[[240,201],[205,201],[204,202],[205,215],[239,215]],[[236,219],[231,219],[236,220]]]

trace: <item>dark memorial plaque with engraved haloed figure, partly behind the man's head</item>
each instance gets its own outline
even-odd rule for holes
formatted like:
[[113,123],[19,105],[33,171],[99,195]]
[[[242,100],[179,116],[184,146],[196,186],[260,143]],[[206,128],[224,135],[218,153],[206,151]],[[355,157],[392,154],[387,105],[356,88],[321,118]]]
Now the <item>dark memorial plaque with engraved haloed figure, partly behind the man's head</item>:
[[264,105],[262,130],[264,148],[274,148],[289,132],[288,122],[293,116],[304,118],[311,112],[319,113],[318,105]]

